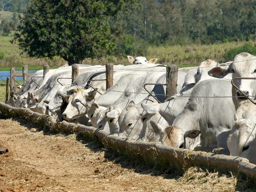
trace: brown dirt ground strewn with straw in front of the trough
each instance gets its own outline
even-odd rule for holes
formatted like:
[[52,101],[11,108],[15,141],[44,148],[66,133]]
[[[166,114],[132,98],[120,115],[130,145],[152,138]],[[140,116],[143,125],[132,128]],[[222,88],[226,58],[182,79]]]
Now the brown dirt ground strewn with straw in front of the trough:
[[0,119],[0,188],[8,191],[245,191],[250,182],[190,168],[148,170],[81,134],[38,132],[22,119]]

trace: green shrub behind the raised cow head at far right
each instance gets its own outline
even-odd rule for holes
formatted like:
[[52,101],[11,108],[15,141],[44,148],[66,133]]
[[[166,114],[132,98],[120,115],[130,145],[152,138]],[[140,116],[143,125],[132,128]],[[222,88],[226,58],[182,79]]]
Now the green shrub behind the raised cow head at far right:
[[225,52],[223,57],[226,60],[233,60],[234,57],[241,52],[248,52],[252,55],[256,55],[256,44],[252,45],[249,43],[244,43],[244,46],[242,46],[242,47],[236,47],[236,48],[230,49],[229,51]]

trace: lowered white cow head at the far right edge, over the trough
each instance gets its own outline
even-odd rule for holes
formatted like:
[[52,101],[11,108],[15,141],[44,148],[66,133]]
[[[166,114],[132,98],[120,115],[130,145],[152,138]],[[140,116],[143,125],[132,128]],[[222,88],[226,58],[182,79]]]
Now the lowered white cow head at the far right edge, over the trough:
[[236,121],[233,129],[228,135],[228,149],[232,156],[247,158],[250,163],[256,163],[254,149],[256,147],[256,113],[247,119]]

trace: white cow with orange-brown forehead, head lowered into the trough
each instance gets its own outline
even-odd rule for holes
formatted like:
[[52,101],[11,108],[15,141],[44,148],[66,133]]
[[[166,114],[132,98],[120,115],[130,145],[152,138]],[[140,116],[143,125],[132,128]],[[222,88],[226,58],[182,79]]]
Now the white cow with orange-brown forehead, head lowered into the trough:
[[208,79],[196,84],[172,126],[168,129],[155,126],[162,143],[182,148],[184,138],[196,138],[201,132],[201,147],[227,149],[227,137],[235,124],[231,87],[228,80]]

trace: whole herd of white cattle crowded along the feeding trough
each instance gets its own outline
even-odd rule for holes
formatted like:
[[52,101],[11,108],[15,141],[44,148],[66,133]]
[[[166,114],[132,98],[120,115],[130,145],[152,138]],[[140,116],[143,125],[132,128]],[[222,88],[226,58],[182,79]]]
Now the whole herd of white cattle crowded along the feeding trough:
[[[71,66],[51,69],[44,78],[28,79],[7,104],[49,114],[136,140],[174,148],[214,151],[247,158],[256,164],[256,106],[231,84],[234,77],[256,77],[256,56],[236,55],[219,64],[205,60],[198,68],[179,68],[177,92],[165,100],[166,67],[157,59],[128,56],[134,65],[114,66],[113,87],[106,90],[105,66],[78,65],[71,83]],[[42,76],[43,70],[34,76]],[[57,82],[58,78],[62,78]],[[64,79],[67,78],[67,79]],[[256,96],[256,80],[236,79],[247,96]],[[155,100],[154,95],[161,103]]]

